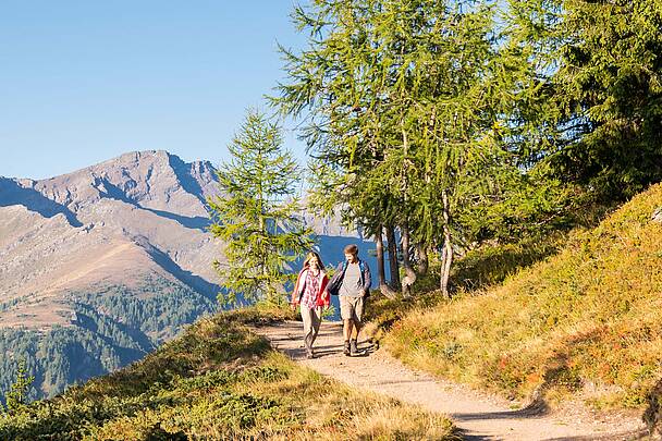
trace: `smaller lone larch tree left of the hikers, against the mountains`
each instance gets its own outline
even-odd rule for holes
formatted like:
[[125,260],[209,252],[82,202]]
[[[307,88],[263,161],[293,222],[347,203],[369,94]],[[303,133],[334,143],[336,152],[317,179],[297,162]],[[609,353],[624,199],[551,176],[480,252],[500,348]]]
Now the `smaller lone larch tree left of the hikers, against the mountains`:
[[218,172],[220,196],[209,199],[210,231],[223,241],[228,260],[213,264],[225,290],[221,303],[281,302],[287,264],[312,246],[311,231],[295,217],[298,200],[290,198],[298,167],[281,147],[280,127],[256,111],[228,146],[232,159]]

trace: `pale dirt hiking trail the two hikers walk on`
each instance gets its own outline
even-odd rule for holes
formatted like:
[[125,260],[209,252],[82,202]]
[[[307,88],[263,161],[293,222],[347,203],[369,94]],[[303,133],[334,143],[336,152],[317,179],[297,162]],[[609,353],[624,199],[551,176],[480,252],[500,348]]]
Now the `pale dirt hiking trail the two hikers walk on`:
[[467,440],[634,440],[647,433],[638,418],[596,417],[586,411],[550,415],[540,406],[512,409],[505,400],[414,371],[384,350],[373,351],[366,341],[359,341],[365,355],[344,356],[339,322],[322,322],[314,359],[305,357],[298,321],[255,331],[274,348],[322,375],[449,415]]

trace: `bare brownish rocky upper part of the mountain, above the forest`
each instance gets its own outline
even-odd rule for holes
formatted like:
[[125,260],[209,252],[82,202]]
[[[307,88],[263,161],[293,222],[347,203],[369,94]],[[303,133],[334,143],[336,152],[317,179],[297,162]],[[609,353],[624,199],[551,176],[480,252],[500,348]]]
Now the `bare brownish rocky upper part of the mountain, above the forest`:
[[[0,180],[1,326],[39,327],[68,315],[62,294],[112,283],[139,284],[154,271],[213,298],[205,198],[209,162],[166,151],[131,152],[42,181]],[[58,305],[58,306],[56,306]],[[27,314],[29,321],[17,319]]]

